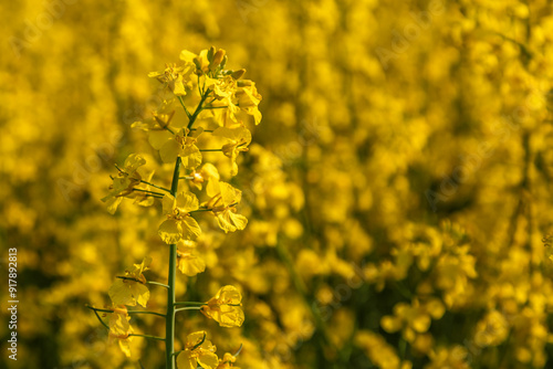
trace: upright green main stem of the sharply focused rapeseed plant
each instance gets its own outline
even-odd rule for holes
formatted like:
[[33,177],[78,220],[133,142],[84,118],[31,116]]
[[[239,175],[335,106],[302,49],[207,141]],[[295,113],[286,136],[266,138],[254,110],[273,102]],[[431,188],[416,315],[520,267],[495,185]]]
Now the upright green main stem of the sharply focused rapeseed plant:
[[[190,118],[191,119],[191,118]],[[192,120],[190,120],[192,122]],[[180,157],[177,157],[175,164],[175,171],[173,172],[171,191],[170,193],[176,197],[178,191],[178,178],[180,175]],[[177,244],[169,245],[169,273],[167,285],[167,314],[165,315],[165,354],[166,354],[166,369],[175,369],[175,286],[177,275]]]

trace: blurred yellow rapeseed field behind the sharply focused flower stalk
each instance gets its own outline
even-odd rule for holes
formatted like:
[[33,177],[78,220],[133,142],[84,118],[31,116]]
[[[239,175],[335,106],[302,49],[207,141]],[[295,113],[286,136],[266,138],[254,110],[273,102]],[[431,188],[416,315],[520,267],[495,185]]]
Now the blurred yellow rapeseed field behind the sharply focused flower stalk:
[[[234,182],[248,228],[207,232],[207,271],[178,294],[234,284],[246,323],[182,315],[177,346],[207,329],[221,356],[243,344],[240,368],[553,366],[551,1],[0,9],[2,367],[163,367],[161,345],[134,339],[127,359],[85,308],[145,255],[166,278],[159,207],[111,215],[100,199],[128,154],[158,160],[131,128],[156,101],[147,73],[210,45],[257,82],[263,120]],[[163,335],[158,318],[134,324]]]

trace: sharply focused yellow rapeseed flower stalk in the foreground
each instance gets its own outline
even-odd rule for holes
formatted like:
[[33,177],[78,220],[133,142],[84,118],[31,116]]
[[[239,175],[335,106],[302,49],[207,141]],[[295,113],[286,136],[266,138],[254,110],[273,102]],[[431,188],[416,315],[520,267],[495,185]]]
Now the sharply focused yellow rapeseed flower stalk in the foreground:
[[[112,191],[102,199],[111,213],[115,212],[124,198],[135,199],[142,205],[153,205],[156,200],[161,203],[164,218],[158,226],[158,234],[170,249],[167,285],[146,280],[143,273],[152,263],[152,257],[146,257],[140,264],[135,264],[133,270],[126,271],[124,276],[117,277],[108,292],[113,307],[102,312],[111,313],[109,339],[118,340],[127,356],[131,356],[129,339],[133,336],[164,340],[167,368],[173,367],[175,357],[179,368],[229,368],[236,361],[234,356],[226,356],[219,360],[215,346],[206,340],[205,331],[189,335],[185,349],[175,352],[176,313],[200,310],[221,327],[229,328],[240,327],[244,321],[242,295],[231,285],[221,287],[206,303],[175,301],[175,271],[179,270],[190,277],[206,270],[206,262],[196,252],[197,239],[202,234],[198,219],[212,217],[226,233],[243,230],[248,223],[248,219],[237,210],[242,192],[222,181],[217,167],[204,157],[204,152],[211,151],[230,158],[228,176],[236,176],[239,154],[248,151],[251,143],[251,131],[247,128],[248,117],[251,117],[253,125],[261,120],[258,109],[261,95],[257,92],[255,84],[242,80],[244,70],[227,70],[227,60],[222,49],[211,48],[197,55],[182,51],[180,63],[149,74],[161,83],[164,99],[150,118],[136,122],[133,126],[147,133],[152,147],[159,152],[161,165],[175,166],[170,186],[153,183],[154,171],[142,169],[146,159],[142,155],[132,154],[123,168],[117,167],[119,172],[113,177]],[[177,109],[180,114],[176,114]],[[179,187],[184,189],[179,190]],[[204,200],[200,202],[199,199]],[[131,313],[165,317],[165,338],[134,334],[128,323],[131,317],[126,306],[147,307],[150,298],[147,284],[168,289],[166,313]]]

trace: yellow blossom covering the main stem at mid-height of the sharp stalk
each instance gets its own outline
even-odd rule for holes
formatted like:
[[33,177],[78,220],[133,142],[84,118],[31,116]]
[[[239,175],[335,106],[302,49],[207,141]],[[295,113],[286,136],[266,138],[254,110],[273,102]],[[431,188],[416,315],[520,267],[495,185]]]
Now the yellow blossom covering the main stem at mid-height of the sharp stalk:
[[161,240],[171,244],[200,235],[201,229],[189,213],[198,207],[198,199],[191,192],[180,192],[176,199],[171,194],[165,194],[163,209],[167,220],[159,225],[158,233]]

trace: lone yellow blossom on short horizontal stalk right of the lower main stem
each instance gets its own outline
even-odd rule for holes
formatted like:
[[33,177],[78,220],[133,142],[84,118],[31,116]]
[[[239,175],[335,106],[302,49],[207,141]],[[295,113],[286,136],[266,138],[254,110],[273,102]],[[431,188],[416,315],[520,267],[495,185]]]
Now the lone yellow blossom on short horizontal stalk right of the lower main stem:
[[219,323],[221,327],[240,327],[244,316],[242,312],[242,295],[234,286],[225,286],[211,297],[201,313]]

